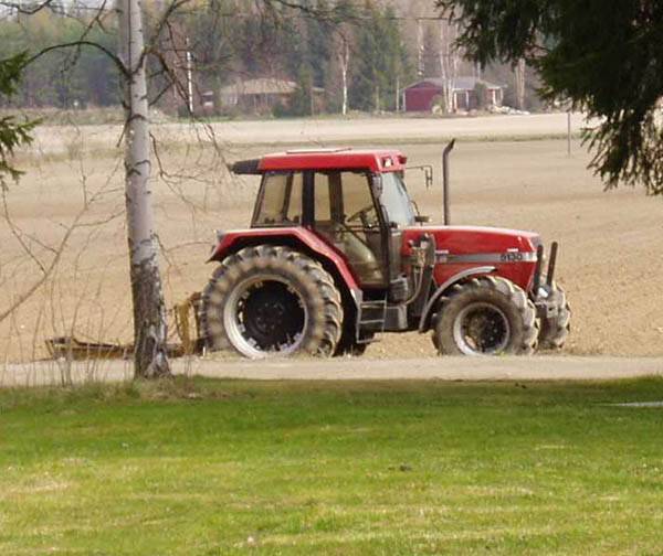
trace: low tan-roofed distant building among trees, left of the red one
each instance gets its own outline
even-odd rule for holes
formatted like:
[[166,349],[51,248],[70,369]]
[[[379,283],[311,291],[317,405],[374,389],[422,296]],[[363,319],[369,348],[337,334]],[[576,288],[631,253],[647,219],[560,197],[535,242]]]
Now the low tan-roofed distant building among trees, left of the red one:
[[[236,107],[261,114],[272,110],[276,105],[290,105],[297,84],[286,79],[259,77],[239,81],[219,90],[219,105],[221,108]],[[315,96],[320,96],[324,92],[320,87],[313,87]]]

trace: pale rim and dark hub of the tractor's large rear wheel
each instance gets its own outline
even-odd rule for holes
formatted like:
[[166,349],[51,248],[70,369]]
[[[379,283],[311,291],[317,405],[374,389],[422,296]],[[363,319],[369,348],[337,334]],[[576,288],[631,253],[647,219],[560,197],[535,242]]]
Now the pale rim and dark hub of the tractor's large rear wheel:
[[249,278],[239,284],[223,312],[229,340],[240,353],[254,359],[298,350],[307,323],[304,299],[276,276]]

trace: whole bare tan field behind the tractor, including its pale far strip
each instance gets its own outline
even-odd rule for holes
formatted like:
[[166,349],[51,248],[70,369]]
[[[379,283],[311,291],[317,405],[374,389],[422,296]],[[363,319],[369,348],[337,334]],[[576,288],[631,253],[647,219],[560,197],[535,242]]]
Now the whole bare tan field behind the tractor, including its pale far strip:
[[[581,125],[575,116],[573,130]],[[441,140],[457,136],[452,222],[534,229],[547,243],[560,242],[558,276],[573,309],[566,353],[663,355],[663,296],[655,289],[663,272],[661,201],[642,190],[603,192],[577,140],[571,157],[564,139],[534,140],[565,131],[565,115],[158,126],[154,194],[167,303],[204,285],[214,228],[249,222],[256,183],[231,179],[225,161],[278,142],[372,141],[399,143],[413,165],[431,163],[439,178]],[[10,186],[0,216],[0,316],[39,288],[0,323],[0,361],[43,357],[43,341],[54,335],[130,341],[118,139],[110,126],[42,128],[19,158],[27,174]],[[425,190],[415,171],[408,184],[421,212],[440,222],[440,188]],[[42,279],[76,215],[62,256]],[[372,357],[433,353],[430,338],[419,334],[385,336],[368,350]]]

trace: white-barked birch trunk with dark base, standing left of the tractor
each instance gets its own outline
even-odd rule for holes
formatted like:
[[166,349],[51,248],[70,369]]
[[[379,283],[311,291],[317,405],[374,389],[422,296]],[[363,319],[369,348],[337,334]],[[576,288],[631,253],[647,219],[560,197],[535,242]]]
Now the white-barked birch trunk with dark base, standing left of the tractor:
[[117,0],[125,86],[125,195],[134,303],[135,376],[170,375],[151,191],[144,31],[139,0]]

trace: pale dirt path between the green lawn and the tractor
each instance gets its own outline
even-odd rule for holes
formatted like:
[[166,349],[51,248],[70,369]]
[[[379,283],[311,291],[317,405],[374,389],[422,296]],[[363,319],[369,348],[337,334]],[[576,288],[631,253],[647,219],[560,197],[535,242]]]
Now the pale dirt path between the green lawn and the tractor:
[[[633,378],[663,375],[661,357],[428,357],[376,360],[369,357],[319,360],[272,360],[256,362],[239,359],[178,360],[176,374],[215,378],[315,379],[315,381],[576,381]],[[64,368],[55,363],[34,363],[0,367],[0,386],[38,386],[62,383]],[[69,371],[73,382],[117,382],[131,377],[123,361],[78,363]]]

